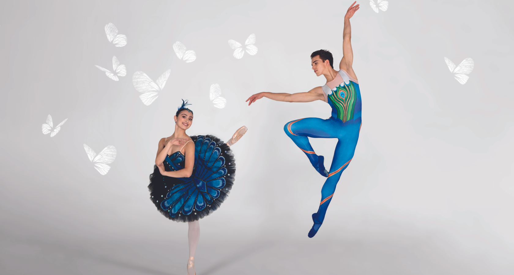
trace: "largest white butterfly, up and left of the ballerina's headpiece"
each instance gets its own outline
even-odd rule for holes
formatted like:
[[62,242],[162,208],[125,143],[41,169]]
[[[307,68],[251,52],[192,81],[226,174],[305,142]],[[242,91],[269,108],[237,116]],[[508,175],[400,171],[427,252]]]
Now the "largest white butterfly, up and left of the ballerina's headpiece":
[[157,99],[157,96],[159,96],[159,91],[164,88],[164,84],[166,84],[166,81],[170,76],[170,71],[171,70],[167,70],[161,76],[159,76],[156,81],[157,84],[155,84],[152,79],[144,72],[137,71],[134,73],[132,76],[132,84],[138,92],[143,93],[139,96],[139,98],[144,105],[148,106],[152,104],[155,99]]

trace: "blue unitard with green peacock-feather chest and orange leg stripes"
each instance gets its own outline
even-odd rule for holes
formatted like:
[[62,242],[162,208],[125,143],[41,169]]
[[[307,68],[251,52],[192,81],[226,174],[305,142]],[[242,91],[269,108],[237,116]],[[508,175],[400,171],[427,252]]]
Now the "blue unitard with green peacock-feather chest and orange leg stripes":
[[362,101],[357,80],[339,70],[333,81],[323,87],[325,102],[332,107],[332,116],[323,120],[318,117],[307,117],[291,121],[284,126],[284,131],[295,144],[307,155],[309,161],[323,173],[323,157],[318,156],[310,146],[310,138],[338,139],[332,165],[327,179],[321,188],[321,203],[318,212],[313,214],[314,226],[309,232],[312,238],[325,219],[325,213],[332,200],[341,173],[352,161],[359,139],[361,127]]

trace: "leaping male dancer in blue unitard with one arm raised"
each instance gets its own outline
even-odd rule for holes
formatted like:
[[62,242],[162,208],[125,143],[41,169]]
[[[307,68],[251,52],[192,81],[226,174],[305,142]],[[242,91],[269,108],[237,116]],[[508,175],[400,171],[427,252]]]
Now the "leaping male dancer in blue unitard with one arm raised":
[[[312,102],[322,100],[332,107],[332,116],[323,120],[318,117],[307,117],[288,122],[284,131],[293,142],[307,155],[310,163],[327,179],[321,189],[321,203],[318,212],[313,214],[314,225],[308,233],[313,238],[325,219],[326,209],[332,200],[341,173],[352,161],[361,126],[361,97],[357,76],[352,69],[353,52],[351,41],[350,18],[359,9],[356,2],[348,8],[344,16],[343,58],[339,63],[339,71],[334,70],[334,58],[327,50],[318,50],[310,55],[312,69],[316,76],[324,75],[326,84],[302,93],[270,93],[261,92],[249,97],[248,105],[256,100],[268,99],[284,102]],[[338,139],[334,158],[329,171],[325,170],[323,156],[317,155],[310,146],[310,138]]]

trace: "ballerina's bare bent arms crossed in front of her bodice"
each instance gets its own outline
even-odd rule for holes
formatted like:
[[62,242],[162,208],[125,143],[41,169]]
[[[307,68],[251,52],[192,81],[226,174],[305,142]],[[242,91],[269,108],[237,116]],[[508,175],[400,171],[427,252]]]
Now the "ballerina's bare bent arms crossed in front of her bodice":
[[[164,170],[164,160],[170,151],[172,145],[184,145],[186,157],[185,167],[177,171],[166,171]],[[159,141],[159,148],[157,149],[157,156],[155,157],[155,165],[159,167],[159,171],[162,175],[171,176],[172,178],[189,178],[193,173],[194,166],[194,142],[188,142],[187,139],[172,139],[166,146],[164,146],[164,139]]]

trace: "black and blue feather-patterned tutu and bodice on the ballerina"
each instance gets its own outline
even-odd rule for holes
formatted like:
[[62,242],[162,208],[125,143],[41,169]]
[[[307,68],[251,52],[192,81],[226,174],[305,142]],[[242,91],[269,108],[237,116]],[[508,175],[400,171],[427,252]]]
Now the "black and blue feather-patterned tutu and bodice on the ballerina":
[[[166,218],[192,222],[219,208],[234,183],[235,162],[230,146],[213,135],[194,135],[195,160],[189,178],[163,176],[157,165],[150,174],[150,199]],[[184,168],[181,152],[164,160],[166,171]]]

